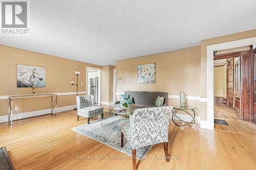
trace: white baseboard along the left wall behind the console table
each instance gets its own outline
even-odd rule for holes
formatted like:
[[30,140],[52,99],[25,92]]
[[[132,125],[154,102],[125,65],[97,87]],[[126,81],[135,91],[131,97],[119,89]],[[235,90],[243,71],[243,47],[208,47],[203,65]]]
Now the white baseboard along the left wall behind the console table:
[[[57,107],[56,112],[58,113],[58,112],[73,110],[75,107],[76,107],[76,105]],[[54,109],[54,112],[55,112],[55,109]],[[13,114],[13,120],[34,117],[34,116],[40,116],[40,115],[50,114],[50,113],[51,113],[51,109],[18,113],[18,114]],[[5,123],[5,122],[8,122],[8,115],[0,116],[0,123]]]

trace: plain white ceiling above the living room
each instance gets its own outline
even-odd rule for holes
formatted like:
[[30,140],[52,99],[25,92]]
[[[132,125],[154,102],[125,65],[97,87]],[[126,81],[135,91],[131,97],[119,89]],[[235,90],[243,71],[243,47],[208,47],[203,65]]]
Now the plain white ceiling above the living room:
[[30,6],[30,34],[0,36],[1,44],[98,65],[256,29],[255,0],[31,0]]

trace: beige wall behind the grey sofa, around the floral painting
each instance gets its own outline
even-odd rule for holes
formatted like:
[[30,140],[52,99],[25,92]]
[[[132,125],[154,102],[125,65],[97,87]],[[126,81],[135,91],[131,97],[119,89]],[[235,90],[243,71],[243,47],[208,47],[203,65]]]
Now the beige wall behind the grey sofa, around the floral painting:
[[[138,84],[137,65],[156,63],[156,83]],[[126,90],[165,91],[169,95],[179,95],[185,91],[187,95],[200,96],[200,46],[184,48],[116,62],[117,92]],[[198,100],[187,100],[188,105],[196,106],[196,114],[200,113]],[[169,99],[170,106],[178,106],[178,99]]]

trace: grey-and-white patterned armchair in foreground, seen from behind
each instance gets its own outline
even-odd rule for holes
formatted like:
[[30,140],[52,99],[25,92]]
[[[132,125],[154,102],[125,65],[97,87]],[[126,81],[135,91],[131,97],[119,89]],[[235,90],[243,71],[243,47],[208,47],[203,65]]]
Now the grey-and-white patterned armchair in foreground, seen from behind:
[[133,169],[136,166],[136,149],[162,143],[166,161],[168,154],[168,127],[173,107],[155,107],[136,109],[130,116],[129,122],[121,124],[121,147],[123,147],[123,136],[132,147]]

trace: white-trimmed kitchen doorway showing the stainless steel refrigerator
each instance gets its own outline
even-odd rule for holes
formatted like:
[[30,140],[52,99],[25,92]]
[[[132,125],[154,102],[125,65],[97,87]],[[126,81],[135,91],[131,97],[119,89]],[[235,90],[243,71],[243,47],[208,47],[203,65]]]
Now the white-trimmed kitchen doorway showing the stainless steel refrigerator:
[[101,104],[101,69],[86,67],[86,91],[94,95],[94,104]]

